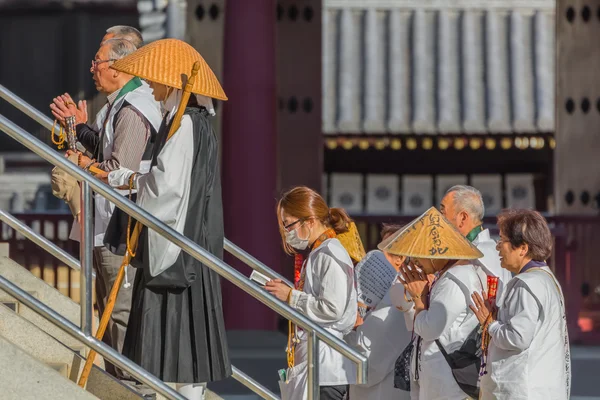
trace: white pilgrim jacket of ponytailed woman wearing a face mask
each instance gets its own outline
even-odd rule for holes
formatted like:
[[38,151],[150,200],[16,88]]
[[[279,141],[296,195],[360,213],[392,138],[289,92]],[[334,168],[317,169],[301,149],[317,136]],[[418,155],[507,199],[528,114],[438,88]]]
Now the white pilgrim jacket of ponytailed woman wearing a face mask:
[[[290,306],[343,339],[356,323],[358,303],[352,259],[338,239],[327,239],[304,262],[306,280],[302,291],[293,290]],[[289,382],[281,387],[282,398],[306,399],[307,335],[299,330],[295,367],[288,370]],[[336,386],[356,382],[356,367],[323,342],[319,342],[319,385]],[[281,386],[281,385],[280,385]]]

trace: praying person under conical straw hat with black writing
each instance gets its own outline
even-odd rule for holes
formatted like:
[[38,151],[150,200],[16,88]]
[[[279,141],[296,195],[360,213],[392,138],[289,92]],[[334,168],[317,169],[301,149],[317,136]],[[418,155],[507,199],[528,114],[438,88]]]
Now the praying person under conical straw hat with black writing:
[[[456,400],[473,396],[460,385],[476,390],[478,365],[470,371],[471,381],[458,382],[444,352],[452,356],[478,327],[469,305],[471,293],[481,291],[486,282],[485,273],[472,261],[481,257],[481,252],[433,207],[384,240],[379,249],[410,257],[410,268],[401,267],[400,274],[412,306],[399,308],[412,317],[406,322],[414,333],[414,347],[407,366],[410,370],[403,371],[410,380],[411,398]],[[432,274],[435,280],[430,283],[428,276]],[[398,289],[395,285],[392,291]]]

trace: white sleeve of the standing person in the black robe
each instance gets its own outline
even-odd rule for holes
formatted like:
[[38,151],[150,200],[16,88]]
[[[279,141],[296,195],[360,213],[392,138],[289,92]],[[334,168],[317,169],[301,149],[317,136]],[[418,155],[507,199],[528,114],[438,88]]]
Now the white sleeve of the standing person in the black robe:
[[[157,164],[137,180],[137,203],[156,218],[183,233],[190,195],[194,158],[192,120],[184,115],[181,126],[167,141]],[[156,276],[177,260],[181,249],[148,230],[150,273]]]

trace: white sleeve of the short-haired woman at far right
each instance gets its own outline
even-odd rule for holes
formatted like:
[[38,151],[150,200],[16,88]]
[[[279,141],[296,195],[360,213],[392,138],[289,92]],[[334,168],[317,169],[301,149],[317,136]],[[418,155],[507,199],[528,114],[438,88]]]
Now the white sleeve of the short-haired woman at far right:
[[505,296],[502,314],[509,317],[507,321],[494,321],[490,324],[488,332],[491,340],[495,346],[504,350],[526,350],[535,334],[540,306],[520,279]]

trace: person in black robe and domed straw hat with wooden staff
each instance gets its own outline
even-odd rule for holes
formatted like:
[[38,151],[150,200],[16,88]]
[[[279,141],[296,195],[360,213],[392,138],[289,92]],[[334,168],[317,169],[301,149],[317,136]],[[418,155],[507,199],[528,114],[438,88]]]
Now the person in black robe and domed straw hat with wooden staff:
[[[197,77],[192,67],[199,67]],[[137,204],[222,258],[219,150],[210,125],[211,97],[227,100],[221,85],[200,54],[176,39],[146,45],[113,68],[145,79],[167,115],[149,173],[121,168],[108,174],[109,184],[137,189]],[[139,269],[123,354],[201,399],[202,383],[231,375],[220,278],[147,228],[137,250],[135,243],[127,249]]]

